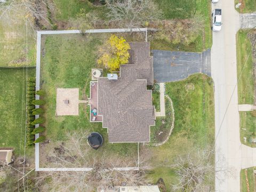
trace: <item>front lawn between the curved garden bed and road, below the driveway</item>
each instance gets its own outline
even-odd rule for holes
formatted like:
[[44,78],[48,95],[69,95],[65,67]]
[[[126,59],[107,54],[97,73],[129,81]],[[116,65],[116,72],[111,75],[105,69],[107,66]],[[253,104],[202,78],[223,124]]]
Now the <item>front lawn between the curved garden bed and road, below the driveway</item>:
[[[210,80],[206,75],[195,74],[183,81],[166,83],[166,94],[172,99],[174,106],[174,130],[164,145],[147,147],[147,150],[152,156],[151,164],[156,167],[149,172],[148,177],[154,182],[163,178],[169,191],[177,179],[174,170],[168,167],[173,164],[174,159],[191,150],[213,145],[214,92],[213,84],[209,84]],[[187,92],[185,85],[188,83],[193,83],[195,89]],[[214,187],[214,181],[211,184]]]

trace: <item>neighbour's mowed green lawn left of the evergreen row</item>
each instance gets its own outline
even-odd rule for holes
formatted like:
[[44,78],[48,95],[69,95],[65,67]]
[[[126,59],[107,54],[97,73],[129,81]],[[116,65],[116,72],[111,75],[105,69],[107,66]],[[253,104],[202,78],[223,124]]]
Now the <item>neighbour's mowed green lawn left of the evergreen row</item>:
[[[28,70],[28,76],[35,76],[35,68]],[[0,147],[14,147],[19,157],[25,142],[26,69],[0,68],[0,92]],[[27,148],[26,154],[33,155],[34,148]]]

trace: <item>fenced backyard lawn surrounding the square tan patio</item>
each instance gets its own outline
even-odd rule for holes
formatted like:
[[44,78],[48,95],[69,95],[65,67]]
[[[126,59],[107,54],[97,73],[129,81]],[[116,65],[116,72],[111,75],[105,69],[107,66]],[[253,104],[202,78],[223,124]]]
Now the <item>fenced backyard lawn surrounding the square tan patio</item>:
[[84,129],[102,134],[105,143],[94,154],[118,154],[137,157],[137,143],[108,142],[107,129],[102,123],[90,123],[89,106],[79,104],[79,116],[55,116],[56,88],[79,88],[79,99],[90,95],[91,68],[97,67],[97,46],[101,35],[47,35],[45,56],[41,62],[41,89],[46,91],[46,138],[51,145],[63,140],[68,131]]

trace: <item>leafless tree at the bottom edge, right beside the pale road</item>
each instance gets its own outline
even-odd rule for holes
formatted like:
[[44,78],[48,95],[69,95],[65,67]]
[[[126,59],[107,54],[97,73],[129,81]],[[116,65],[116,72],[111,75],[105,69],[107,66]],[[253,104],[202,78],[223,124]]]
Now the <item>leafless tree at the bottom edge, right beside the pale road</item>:
[[175,173],[179,182],[173,185],[174,191],[188,192],[212,191],[211,182],[214,180],[214,160],[211,158],[214,150],[198,150],[175,161]]

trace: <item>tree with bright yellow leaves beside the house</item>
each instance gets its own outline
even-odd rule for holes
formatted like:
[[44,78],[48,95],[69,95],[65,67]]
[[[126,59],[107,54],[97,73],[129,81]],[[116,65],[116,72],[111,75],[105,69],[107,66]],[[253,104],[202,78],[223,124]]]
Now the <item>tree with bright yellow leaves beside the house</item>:
[[120,65],[129,61],[130,45],[123,37],[111,35],[111,37],[100,47],[98,64],[103,65],[111,71],[118,71]]

